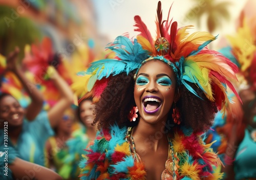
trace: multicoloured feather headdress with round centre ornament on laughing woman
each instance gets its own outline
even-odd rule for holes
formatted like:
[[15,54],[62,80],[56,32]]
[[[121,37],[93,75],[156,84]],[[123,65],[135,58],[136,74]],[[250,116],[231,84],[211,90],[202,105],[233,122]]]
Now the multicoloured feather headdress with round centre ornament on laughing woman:
[[[170,12],[170,10],[169,10]],[[191,93],[198,96],[189,85],[195,83],[206,97],[216,102],[219,110],[225,110],[229,104],[226,86],[237,94],[229,78],[236,79],[238,68],[229,59],[217,51],[209,50],[207,44],[217,37],[208,32],[187,32],[192,26],[178,28],[173,19],[162,19],[161,2],[157,8],[157,35],[153,38],[140,16],[135,16],[135,31],[139,34],[134,39],[118,36],[107,47],[115,53],[112,59],[102,59],[90,64],[84,75],[89,75],[86,91],[96,96],[105,86],[100,81],[120,73],[137,70],[145,60],[159,59],[169,64],[177,76],[178,84],[183,84]],[[81,74],[81,73],[80,73]],[[96,91],[101,87],[100,91]],[[199,97],[199,96],[198,96]]]

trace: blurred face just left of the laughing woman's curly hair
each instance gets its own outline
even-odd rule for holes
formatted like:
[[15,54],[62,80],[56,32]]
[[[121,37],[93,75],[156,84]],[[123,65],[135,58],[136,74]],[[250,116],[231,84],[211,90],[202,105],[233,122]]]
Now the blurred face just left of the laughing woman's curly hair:
[[79,104],[80,119],[86,127],[92,126],[91,124],[94,119],[93,117],[94,107],[95,105],[90,100],[84,100]]

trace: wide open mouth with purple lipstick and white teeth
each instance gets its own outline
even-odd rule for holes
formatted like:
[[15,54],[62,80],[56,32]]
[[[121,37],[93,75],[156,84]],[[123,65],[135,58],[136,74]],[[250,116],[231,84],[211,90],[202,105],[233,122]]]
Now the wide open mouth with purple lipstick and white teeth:
[[156,113],[160,106],[162,105],[161,99],[155,96],[146,96],[142,100],[143,109],[147,114],[154,114]]

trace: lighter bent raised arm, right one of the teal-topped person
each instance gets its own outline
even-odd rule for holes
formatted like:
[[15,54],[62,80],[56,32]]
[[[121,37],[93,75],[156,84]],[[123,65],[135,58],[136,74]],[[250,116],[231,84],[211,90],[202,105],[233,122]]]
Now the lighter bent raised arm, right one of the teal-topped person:
[[52,66],[48,68],[48,76],[54,82],[60,93],[58,102],[48,111],[48,118],[52,127],[55,127],[62,118],[65,110],[73,103],[73,92],[68,83],[55,71]]

